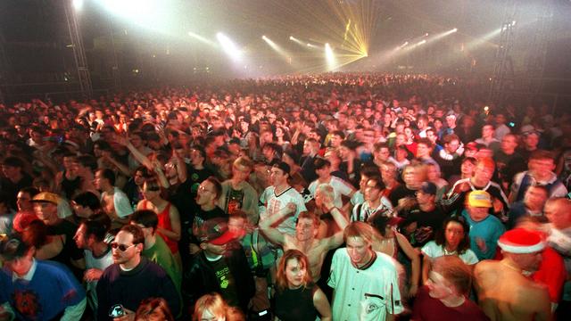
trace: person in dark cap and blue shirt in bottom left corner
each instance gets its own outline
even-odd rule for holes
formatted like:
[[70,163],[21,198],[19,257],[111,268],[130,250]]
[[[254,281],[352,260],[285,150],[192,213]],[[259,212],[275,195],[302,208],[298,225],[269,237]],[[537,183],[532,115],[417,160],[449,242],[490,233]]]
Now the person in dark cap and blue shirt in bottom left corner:
[[34,259],[20,236],[0,241],[0,320],[79,320],[86,292],[65,266]]

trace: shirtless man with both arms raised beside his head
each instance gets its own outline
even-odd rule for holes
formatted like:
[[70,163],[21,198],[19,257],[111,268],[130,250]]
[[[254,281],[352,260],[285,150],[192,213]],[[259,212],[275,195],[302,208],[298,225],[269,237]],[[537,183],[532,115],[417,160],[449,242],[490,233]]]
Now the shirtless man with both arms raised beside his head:
[[[281,210],[277,215],[263,220],[260,223],[261,231],[273,243],[277,243],[287,250],[299,250],[310,260],[310,272],[313,280],[317,282],[321,276],[321,266],[327,251],[337,248],[343,243],[343,229],[349,224],[347,218],[339,208],[336,208],[333,201],[333,187],[330,185],[319,185],[316,193],[316,203],[323,199],[324,206],[335,219],[335,223],[341,229],[330,237],[317,239],[319,231],[319,218],[315,214],[304,211],[300,213],[295,225],[295,235],[281,233],[273,227],[277,222],[291,215],[295,207],[288,204],[288,207]],[[293,205],[293,204],[292,204]]]

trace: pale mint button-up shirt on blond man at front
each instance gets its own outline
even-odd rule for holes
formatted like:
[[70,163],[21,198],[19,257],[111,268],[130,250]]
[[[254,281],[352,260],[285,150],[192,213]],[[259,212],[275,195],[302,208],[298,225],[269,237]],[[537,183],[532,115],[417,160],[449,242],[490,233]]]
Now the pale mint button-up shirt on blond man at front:
[[327,284],[334,289],[334,321],[385,320],[404,309],[399,291],[397,262],[377,252],[369,268],[353,267],[346,248],[335,251]]

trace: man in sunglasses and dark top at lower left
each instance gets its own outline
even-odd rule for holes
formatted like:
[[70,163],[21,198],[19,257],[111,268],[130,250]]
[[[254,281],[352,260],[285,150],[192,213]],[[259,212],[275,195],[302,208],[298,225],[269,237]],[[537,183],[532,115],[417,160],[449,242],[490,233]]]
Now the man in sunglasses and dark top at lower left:
[[111,247],[113,264],[97,283],[97,320],[134,320],[134,311],[150,297],[164,298],[173,313],[178,313],[180,299],[169,275],[141,255],[145,248],[141,227],[121,227]]

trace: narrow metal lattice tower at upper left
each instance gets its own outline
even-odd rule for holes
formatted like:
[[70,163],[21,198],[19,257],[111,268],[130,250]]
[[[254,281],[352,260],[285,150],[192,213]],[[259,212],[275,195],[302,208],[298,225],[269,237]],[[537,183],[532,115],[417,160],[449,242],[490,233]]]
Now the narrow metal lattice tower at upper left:
[[73,57],[78,70],[79,89],[84,98],[91,98],[93,95],[93,86],[91,84],[89,66],[87,65],[86,51],[81,38],[81,30],[79,29],[78,15],[73,7],[72,0],[65,1],[63,7],[65,9],[65,18],[68,21],[68,30],[70,31]]

